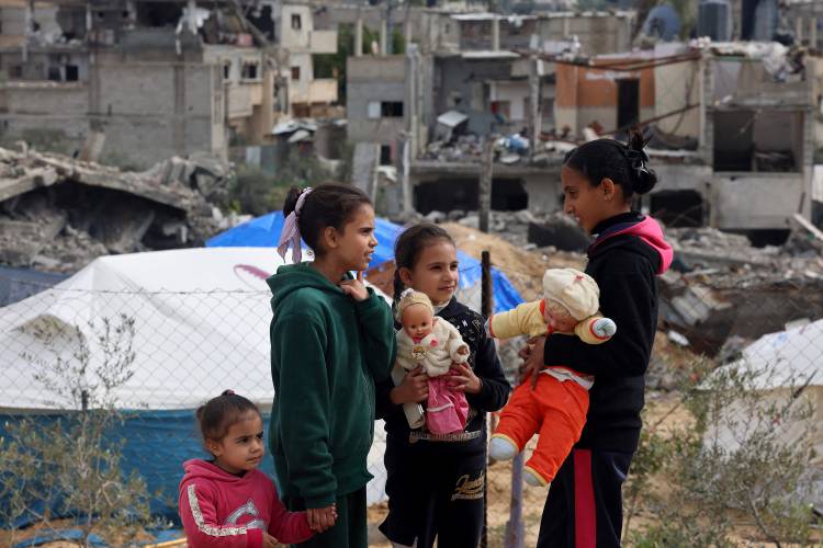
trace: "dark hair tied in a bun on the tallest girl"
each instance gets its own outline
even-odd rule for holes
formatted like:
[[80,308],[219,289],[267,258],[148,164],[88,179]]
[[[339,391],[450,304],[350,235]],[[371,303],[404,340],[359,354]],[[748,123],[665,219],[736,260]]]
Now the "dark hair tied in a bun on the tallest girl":
[[582,173],[591,186],[611,179],[629,201],[657,184],[657,174],[649,168],[649,156],[643,151],[646,142],[649,139],[639,129],[632,129],[625,145],[615,139],[593,140],[567,152],[563,164]]

